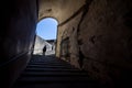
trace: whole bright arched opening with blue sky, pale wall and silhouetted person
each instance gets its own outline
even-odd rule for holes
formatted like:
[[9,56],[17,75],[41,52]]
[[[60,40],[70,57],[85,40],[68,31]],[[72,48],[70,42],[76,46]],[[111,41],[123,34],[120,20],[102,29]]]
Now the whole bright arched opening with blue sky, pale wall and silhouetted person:
[[[58,22],[53,18],[45,18],[37,23],[34,44],[34,55],[54,55],[56,46]],[[44,47],[46,50],[44,52]]]

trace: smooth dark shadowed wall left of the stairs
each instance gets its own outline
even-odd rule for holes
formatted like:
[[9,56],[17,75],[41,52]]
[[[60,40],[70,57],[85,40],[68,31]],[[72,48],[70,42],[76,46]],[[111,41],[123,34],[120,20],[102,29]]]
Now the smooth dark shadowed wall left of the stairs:
[[30,61],[37,21],[36,0],[6,0],[0,3],[0,82],[10,87]]

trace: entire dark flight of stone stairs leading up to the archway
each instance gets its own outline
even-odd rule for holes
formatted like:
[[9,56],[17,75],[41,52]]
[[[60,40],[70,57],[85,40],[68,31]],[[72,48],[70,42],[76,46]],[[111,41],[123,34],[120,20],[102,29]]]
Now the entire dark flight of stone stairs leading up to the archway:
[[33,55],[13,88],[100,88],[86,72],[54,56]]

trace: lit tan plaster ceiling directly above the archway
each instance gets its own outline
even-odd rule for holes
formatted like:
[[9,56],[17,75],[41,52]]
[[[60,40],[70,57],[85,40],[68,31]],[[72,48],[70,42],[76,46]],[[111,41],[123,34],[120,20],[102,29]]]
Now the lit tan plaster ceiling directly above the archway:
[[38,21],[51,16],[61,24],[84,4],[85,0],[38,0]]

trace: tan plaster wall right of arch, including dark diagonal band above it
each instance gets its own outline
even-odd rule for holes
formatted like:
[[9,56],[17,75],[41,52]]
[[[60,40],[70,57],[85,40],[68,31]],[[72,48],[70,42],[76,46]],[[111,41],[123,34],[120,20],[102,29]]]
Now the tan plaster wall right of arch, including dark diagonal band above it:
[[72,16],[58,25],[56,56],[69,62],[78,68],[81,68],[79,65],[79,26],[85,14],[88,12],[90,2],[91,0],[86,0]]

